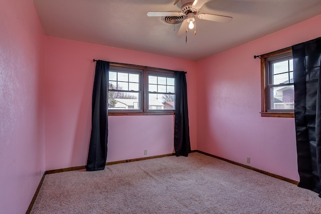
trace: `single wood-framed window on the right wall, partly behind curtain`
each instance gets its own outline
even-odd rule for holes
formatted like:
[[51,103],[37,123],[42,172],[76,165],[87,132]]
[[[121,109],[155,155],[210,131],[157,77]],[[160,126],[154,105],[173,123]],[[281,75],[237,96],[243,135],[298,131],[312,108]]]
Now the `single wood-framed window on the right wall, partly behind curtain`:
[[291,48],[261,56],[261,92],[261,116],[294,117]]

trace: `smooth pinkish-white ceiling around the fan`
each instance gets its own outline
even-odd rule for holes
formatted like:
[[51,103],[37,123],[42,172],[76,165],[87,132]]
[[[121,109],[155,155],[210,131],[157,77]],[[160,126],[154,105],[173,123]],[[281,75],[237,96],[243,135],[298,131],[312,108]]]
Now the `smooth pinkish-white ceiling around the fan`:
[[233,17],[230,23],[196,20],[179,25],[147,17],[178,11],[175,0],[33,0],[46,35],[198,61],[321,14],[320,0],[210,0],[201,13]]

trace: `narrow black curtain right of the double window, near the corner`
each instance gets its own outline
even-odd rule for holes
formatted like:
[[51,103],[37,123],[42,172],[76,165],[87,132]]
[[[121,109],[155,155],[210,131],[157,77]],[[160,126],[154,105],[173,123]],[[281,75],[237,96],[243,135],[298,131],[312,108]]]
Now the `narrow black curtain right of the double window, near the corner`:
[[187,157],[191,152],[185,72],[176,72],[174,149],[176,156]]

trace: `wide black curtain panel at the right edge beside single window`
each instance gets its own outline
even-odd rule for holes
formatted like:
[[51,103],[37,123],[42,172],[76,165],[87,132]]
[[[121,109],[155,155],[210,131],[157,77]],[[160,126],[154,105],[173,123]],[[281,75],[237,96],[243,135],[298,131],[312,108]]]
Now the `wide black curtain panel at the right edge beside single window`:
[[292,46],[298,186],[321,197],[321,37]]

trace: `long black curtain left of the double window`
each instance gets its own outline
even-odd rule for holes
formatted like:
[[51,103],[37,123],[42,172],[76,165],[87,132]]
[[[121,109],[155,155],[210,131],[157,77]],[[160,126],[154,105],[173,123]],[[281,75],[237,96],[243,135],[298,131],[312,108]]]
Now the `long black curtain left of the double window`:
[[107,159],[109,62],[97,60],[92,91],[91,135],[87,171],[103,170]]

